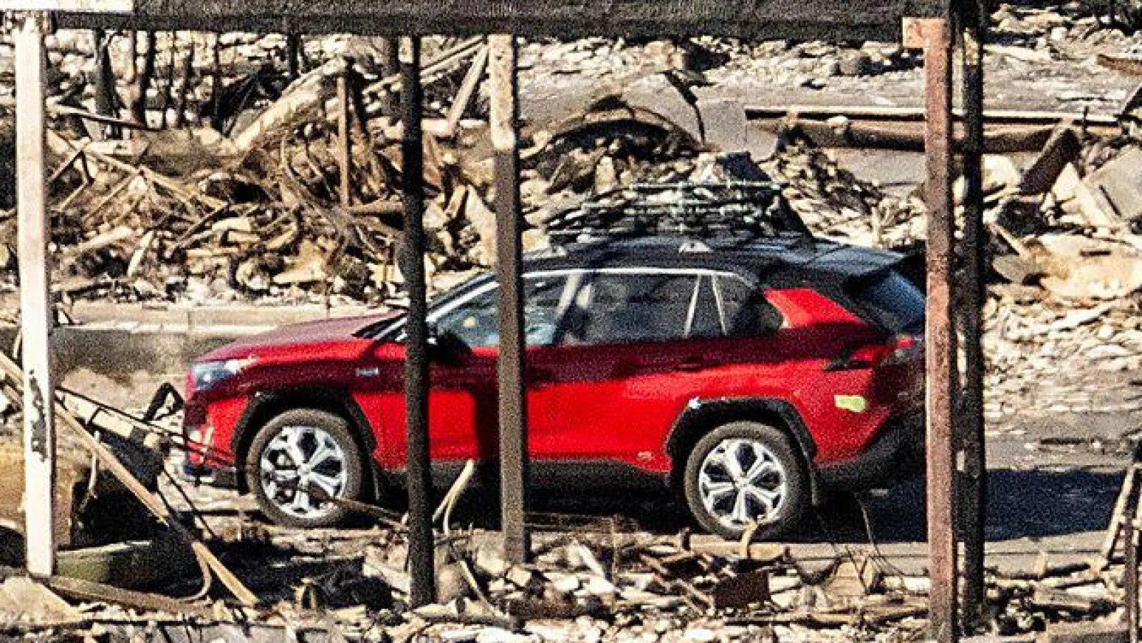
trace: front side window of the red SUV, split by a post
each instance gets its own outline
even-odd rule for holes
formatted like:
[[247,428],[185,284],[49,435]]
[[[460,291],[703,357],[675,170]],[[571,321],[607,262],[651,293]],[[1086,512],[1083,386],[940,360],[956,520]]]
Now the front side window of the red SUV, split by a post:
[[[556,315],[566,278],[528,275],[523,281],[523,325],[529,346],[555,341]],[[451,331],[473,348],[499,345],[499,288],[492,286],[441,314],[437,331]]]

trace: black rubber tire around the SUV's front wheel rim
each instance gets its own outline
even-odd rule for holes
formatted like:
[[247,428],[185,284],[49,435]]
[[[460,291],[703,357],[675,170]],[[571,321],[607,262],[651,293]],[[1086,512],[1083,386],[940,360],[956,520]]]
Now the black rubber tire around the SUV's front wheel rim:
[[[274,489],[271,488],[271,490],[267,490],[270,476],[263,476],[263,456],[266,455],[267,449],[276,449],[274,440],[279,435],[282,435],[286,431],[296,432],[299,427],[307,431],[316,429],[323,432],[340,450],[344,463],[341,468],[344,469],[345,477],[344,483],[337,490],[336,497],[346,500],[361,499],[365,487],[365,474],[361,447],[354,436],[353,429],[345,418],[316,409],[293,409],[286,411],[258,429],[254,442],[250,443],[250,450],[246,458],[247,485],[254,492],[254,497],[258,501],[258,507],[276,524],[300,528],[333,527],[340,524],[349,515],[351,512],[348,509],[343,505],[322,501],[320,498],[309,498],[308,495],[306,496],[307,501],[316,503],[314,512],[311,515],[298,515],[296,512],[283,508],[287,505],[283,501],[283,495],[288,496],[290,489],[297,489],[297,483],[292,485],[288,482],[281,483],[276,498],[270,497],[270,492]],[[305,447],[303,444],[303,450],[305,450]],[[314,445],[314,449],[316,449],[316,445]],[[309,455],[313,455],[313,451]],[[273,453],[271,453],[271,459],[273,459]],[[328,471],[323,469],[322,473],[328,473]]]

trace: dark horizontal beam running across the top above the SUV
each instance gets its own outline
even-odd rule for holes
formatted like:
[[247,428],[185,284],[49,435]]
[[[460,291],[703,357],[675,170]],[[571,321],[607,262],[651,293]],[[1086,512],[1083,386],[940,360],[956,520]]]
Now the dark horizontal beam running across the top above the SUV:
[[136,0],[131,14],[63,14],[59,25],[376,35],[716,34],[751,39],[899,40],[902,17],[944,16],[947,11],[948,0]]

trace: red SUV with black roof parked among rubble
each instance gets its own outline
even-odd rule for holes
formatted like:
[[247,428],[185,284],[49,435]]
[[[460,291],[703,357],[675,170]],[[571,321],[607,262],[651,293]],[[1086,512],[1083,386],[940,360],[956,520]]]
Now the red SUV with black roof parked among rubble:
[[[531,484],[670,485],[706,529],[787,531],[923,455],[924,298],[899,255],[801,233],[577,243],[524,260]],[[429,308],[434,469],[497,447],[497,283]],[[399,315],[283,327],[188,376],[191,469],[328,525],[405,466]],[[234,475],[238,472],[239,475]],[[572,491],[574,489],[576,491]]]

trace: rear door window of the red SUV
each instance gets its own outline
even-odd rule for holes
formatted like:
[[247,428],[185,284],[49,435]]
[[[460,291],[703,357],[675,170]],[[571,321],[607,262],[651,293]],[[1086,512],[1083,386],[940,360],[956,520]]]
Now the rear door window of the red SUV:
[[630,344],[682,339],[691,319],[698,275],[600,272],[589,300],[565,316],[568,344]]

